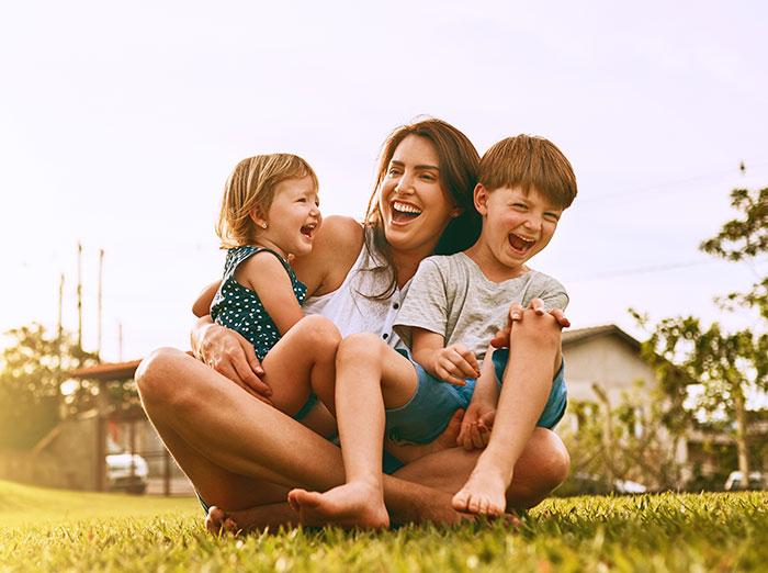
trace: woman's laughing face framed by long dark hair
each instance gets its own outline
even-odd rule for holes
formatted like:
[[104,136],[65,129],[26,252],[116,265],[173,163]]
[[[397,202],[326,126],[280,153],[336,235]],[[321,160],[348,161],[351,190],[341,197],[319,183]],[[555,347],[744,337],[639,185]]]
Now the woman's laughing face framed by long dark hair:
[[459,210],[442,189],[438,153],[429,139],[408,135],[397,146],[379,189],[379,211],[395,250],[434,250]]

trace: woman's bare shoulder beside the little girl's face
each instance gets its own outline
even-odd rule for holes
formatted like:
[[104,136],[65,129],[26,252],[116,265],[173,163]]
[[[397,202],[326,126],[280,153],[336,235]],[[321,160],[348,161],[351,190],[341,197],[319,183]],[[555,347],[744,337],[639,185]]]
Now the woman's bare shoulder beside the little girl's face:
[[363,225],[351,217],[331,215],[323,220],[312,252],[293,261],[309,295],[338,289],[363,247]]

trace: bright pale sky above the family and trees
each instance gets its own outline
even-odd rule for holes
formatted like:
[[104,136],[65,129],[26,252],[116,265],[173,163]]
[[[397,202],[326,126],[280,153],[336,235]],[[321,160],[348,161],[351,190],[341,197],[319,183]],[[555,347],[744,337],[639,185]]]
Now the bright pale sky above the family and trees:
[[103,248],[103,358],[120,323],[126,360],[188,348],[231,167],[297,153],[324,214],[360,217],[381,143],[419,114],[481,153],[531,133],[569,157],[579,196],[532,266],[566,284],[575,327],[642,338],[629,306],[718,319],[712,296],[768,269],[697,249],[731,189],[768,186],[766,16],[757,0],[3,2],[0,329],[54,328],[61,272],[77,327],[82,241],[86,346]]

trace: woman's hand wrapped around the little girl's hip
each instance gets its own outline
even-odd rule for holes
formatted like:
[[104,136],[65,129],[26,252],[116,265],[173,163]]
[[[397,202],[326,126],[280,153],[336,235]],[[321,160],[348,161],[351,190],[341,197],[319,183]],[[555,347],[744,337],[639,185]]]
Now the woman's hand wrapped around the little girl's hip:
[[261,402],[272,405],[272,390],[261,381],[264,371],[253,346],[235,330],[204,316],[192,330],[192,349],[200,360]]

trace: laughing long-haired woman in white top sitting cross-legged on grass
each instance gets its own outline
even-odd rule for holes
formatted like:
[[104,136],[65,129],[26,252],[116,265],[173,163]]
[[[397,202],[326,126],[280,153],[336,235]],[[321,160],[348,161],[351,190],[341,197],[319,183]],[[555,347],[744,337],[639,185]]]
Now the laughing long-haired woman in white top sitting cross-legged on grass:
[[[312,254],[294,261],[307,286],[305,312],[330,318],[343,336],[373,332],[394,345],[392,321],[419,262],[433,252],[462,250],[477,236],[479,221],[472,206],[477,164],[466,136],[439,120],[393,132],[382,151],[365,227],[329,217]],[[560,344],[554,318],[546,329],[527,324],[533,321],[516,326],[513,339]],[[136,380],[147,415],[179,465],[206,503],[226,510],[210,509],[210,529],[296,524],[303,516],[289,507],[287,491],[326,491],[343,483],[339,449],[268,405],[269,387],[259,380],[252,348],[239,335],[206,317],[192,342],[195,355],[213,369],[181,351],[161,349],[142,363]],[[308,335],[306,344],[323,340]],[[450,448],[385,476],[392,520],[461,518],[451,497],[475,459],[476,452]],[[539,503],[565,480],[568,465],[562,441],[538,429],[515,469],[510,507]],[[325,523],[321,516],[319,523]],[[334,523],[345,525],[343,516]]]

